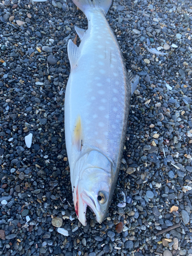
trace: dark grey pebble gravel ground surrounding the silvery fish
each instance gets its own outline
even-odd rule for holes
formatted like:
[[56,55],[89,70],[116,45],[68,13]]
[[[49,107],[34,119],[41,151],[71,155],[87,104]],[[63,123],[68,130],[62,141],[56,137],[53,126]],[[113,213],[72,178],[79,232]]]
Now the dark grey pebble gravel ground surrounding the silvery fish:
[[88,210],[83,227],[63,104],[67,42],[87,19],[72,1],[0,1],[0,255],[192,256],[191,14],[187,0],[113,1],[106,18],[141,78],[109,213],[98,224]]

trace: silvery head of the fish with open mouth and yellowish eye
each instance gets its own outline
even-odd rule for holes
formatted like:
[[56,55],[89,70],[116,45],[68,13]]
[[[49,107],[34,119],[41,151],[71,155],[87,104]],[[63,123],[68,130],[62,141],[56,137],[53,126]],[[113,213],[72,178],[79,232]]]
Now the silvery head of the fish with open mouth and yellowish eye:
[[[89,158],[88,158],[89,160]],[[104,159],[106,161],[106,159]],[[108,160],[109,161],[109,160]],[[101,223],[108,211],[113,195],[111,162],[103,164],[105,168],[88,162],[84,165],[73,191],[75,211],[79,221],[86,226],[86,210],[89,206],[95,213],[97,222]]]

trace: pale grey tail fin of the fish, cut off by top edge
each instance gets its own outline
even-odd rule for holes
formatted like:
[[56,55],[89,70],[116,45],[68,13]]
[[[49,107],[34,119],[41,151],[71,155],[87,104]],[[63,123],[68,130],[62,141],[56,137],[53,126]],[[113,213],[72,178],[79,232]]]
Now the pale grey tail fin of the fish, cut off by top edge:
[[85,12],[88,9],[102,9],[106,14],[110,9],[112,0],[73,0],[73,3],[82,11]]

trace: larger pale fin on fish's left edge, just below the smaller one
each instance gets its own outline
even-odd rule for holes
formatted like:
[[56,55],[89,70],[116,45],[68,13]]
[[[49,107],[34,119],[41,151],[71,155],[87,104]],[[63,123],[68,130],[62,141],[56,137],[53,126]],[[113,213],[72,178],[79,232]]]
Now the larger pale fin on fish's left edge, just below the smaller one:
[[69,39],[68,42],[68,57],[70,61],[71,70],[73,70],[77,65],[77,60],[80,56],[79,48]]

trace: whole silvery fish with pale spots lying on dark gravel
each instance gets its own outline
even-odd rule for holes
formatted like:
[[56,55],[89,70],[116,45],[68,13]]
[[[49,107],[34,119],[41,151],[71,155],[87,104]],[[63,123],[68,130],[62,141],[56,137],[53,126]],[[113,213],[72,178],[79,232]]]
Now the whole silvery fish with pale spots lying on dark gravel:
[[88,206],[98,223],[108,212],[139,76],[127,74],[106,20],[112,1],[73,2],[86,15],[88,29],[75,27],[79,46],[68,42],[71,72],[65,93],[65,137],[75,212],[86,226]]

